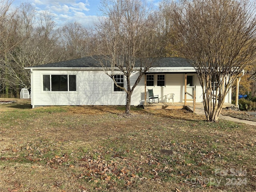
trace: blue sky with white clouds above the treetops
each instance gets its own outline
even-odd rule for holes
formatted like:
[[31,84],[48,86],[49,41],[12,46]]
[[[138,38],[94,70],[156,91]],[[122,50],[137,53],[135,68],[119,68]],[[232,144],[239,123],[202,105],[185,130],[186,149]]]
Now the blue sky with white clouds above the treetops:
[[[149,1],[157,6],[159,0]],[[77,21],[88,27],[97,20],[97,15],[100,15],[100,0],[14,0],[12,6],[18,6],[22,2],[32,4],[38,13],[50,10],[55,16],[57,26]]]

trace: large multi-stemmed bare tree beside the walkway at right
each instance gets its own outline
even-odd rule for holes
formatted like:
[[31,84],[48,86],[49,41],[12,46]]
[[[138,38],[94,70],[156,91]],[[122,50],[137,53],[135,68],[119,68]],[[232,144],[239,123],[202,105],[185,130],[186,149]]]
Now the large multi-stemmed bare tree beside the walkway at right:
[[234,81],[256,55],[256,9],[247,0],[173,4],[179,51],[194,66],[208,121],[218,121]]

